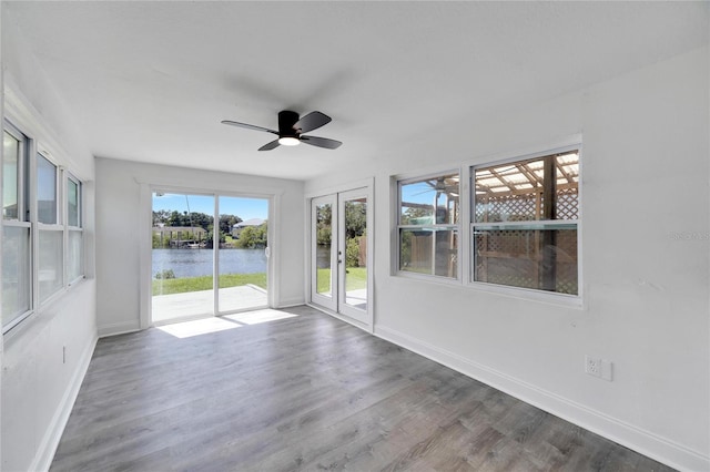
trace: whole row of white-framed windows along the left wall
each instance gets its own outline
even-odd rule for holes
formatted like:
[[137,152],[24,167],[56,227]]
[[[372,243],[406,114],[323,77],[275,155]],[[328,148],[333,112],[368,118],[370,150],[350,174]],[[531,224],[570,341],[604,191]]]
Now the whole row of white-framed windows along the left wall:
[[[82,185],[10,123],[2,155],[2,334],[83,276]],[[31,157],[34,156],[32,162]]]

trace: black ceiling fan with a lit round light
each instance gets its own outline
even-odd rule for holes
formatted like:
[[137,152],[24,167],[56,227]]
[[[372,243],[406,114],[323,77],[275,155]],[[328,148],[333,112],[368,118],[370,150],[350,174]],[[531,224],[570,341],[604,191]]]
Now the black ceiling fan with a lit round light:
[[235,121],[223,120],[222,123],[232,126],[245,127],[247,130],[265,131],[278,136],[278,138],[266,143],[258,148],[258,151],[271,151],[280,145],[295,146],[298,143],[311,144],[312,146],[325,147],[326,150],[335,150],[341,144],[339,141],[328,140],[327,137],[318,136],[304,136],[303,133],[307,133],[313,130],[328,124],[331,116],[321,112],[311,112],[307,115],[300,117],[298,113],[284,110],[278,112],[278,131],[270,130],[267,127],[255,126],[253,124],[239,123]]

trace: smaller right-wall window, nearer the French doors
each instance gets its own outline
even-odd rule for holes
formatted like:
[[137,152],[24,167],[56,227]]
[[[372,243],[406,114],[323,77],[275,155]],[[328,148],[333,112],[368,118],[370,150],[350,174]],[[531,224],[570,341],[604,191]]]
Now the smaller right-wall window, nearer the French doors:
[[459,174],[399,181],[398,270],[458,279]]

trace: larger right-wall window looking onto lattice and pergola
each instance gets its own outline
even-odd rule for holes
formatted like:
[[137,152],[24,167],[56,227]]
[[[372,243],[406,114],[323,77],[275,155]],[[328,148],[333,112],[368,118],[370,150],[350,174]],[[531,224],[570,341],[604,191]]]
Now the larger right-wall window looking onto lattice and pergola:
[[579,295],[579,151],[474,167],[473,280]]

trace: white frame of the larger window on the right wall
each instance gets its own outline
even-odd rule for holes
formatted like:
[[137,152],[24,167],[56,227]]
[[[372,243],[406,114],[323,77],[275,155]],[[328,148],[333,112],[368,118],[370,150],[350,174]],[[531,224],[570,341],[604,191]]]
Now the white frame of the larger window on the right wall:
[[[579,174],[577,177],[577,198],[578,198],[578,207],[577,207],[577,218],[576,219],[528,219],[528,220],[517,220],[517,222],[476,222],[476,170],[491,167],[491,166],[500,166],[506,164],[534,161],[536,158],[542,158],[550,155],[564,154],[576,151],[578,155],[578,168]],[[469,166],[468,171],[468,202],[469,202],[469,212],[468,212],[468,232],[467,232],[467,245],[468,245],[468,280],[467,286],[479,289],[483,291],[495,293],[500,295],[507,295],[516,298],[525,298],[538,301],[547,301],[556,305],[571,306],[571,307],[581,307],[584,300],[584,283],[582,283],[582,144],[581,140],[576,140],[574,143],[557,146],[557,147],[548,147],[544,151],[538,151],[534,153],[517,153],[514,155],[509,155],[504,158],[498,158],[495,161],[486,161],[484,163],[476,163]],[[476,270],[476,230],[477,229],[567,229],[575,227],[577,230],[577,294],[562,294],[557,291],[548,291],[540,288],[527,288],[527,287],[516,287],[509,285],[486,283],[480,280],[475,280],[475,270]]]

